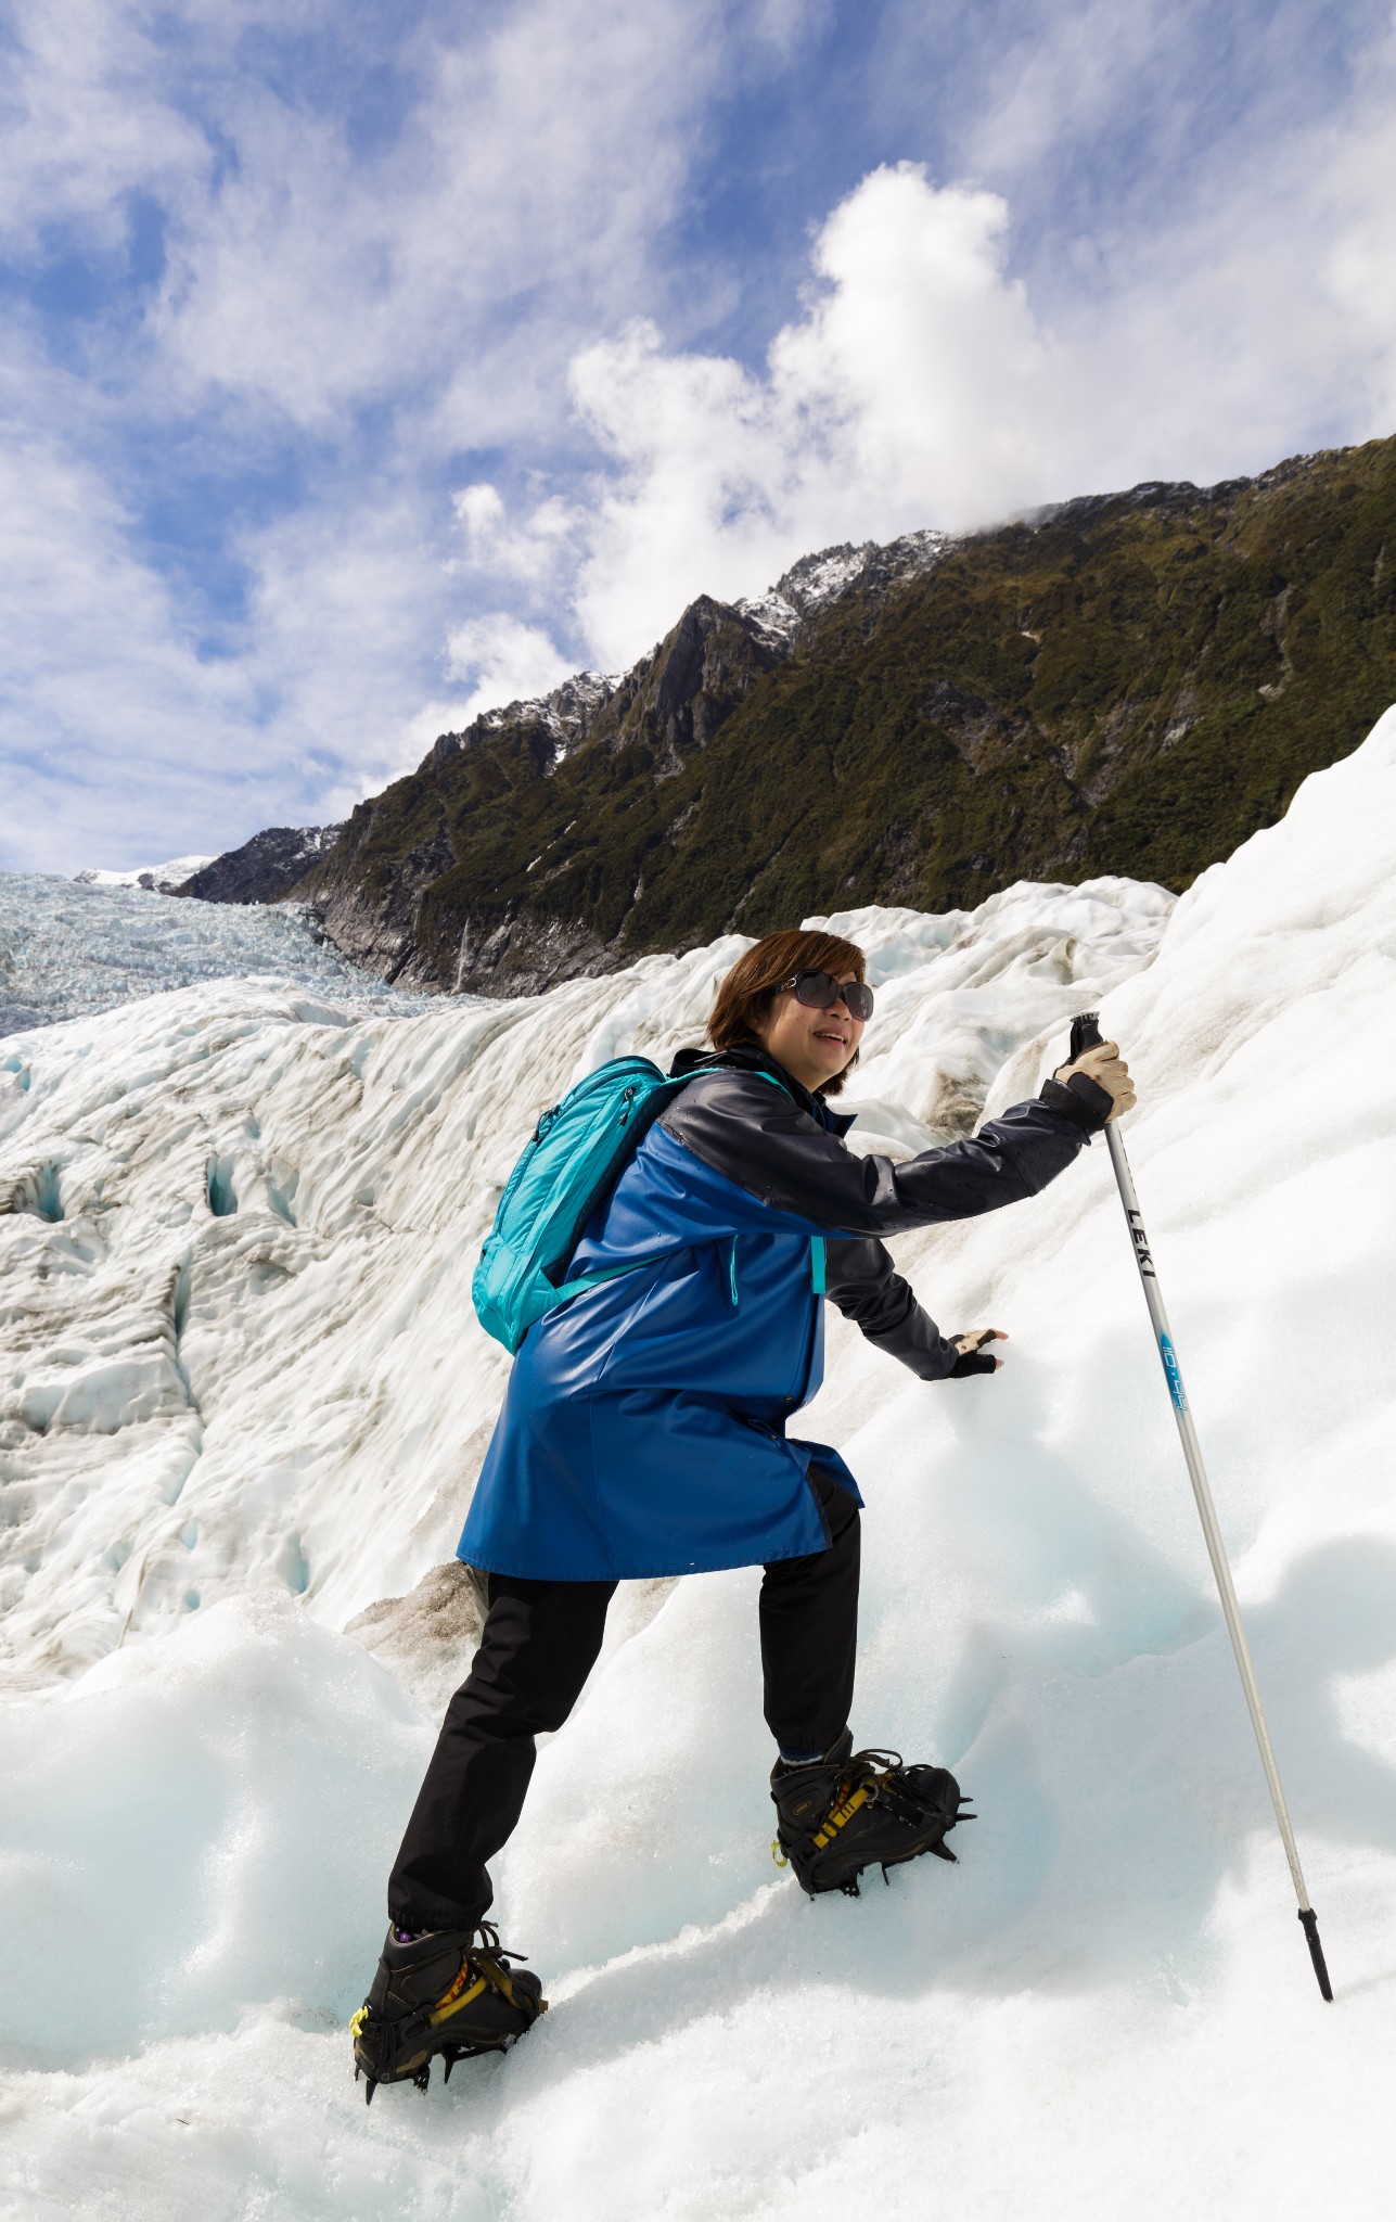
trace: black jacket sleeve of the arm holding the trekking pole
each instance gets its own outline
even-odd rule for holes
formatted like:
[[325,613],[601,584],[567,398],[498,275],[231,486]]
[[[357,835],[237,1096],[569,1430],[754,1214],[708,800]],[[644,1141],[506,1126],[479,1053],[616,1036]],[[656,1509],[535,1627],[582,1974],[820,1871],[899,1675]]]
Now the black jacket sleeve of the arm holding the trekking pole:
[[[1105,1120],[1071,1087],[1049,1080],[1047,1089],[1049,1098],[1045,1091],[1038,1102],[1014,1104],[971,1142],[925,1149],[903,1164],[856,1158],[785,1089],[754,1071],[700,1073],[660,1124],[776,1211],[794,1211],[829,1233],[896,1235],[978,1218],[1056,1180]],[[1109,1113],[1105,1091],[1091,1095]]]

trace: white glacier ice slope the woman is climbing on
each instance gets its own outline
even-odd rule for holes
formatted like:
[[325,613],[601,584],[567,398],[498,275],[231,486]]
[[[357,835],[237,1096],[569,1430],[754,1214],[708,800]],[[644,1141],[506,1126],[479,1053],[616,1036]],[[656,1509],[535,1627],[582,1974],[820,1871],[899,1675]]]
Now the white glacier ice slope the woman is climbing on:
[[[225,980],[7,1042],[0,2213],[1385,2215],[1394,849],[1396,715],[1176,909],[840,915],[889,1147],[1034,1089],[1100,998],[1129,1051],[1332,2009],[1094,1147],[896,1242],[1003,1373],[923,1387],[834,1318],[807,1422],[869,1500],[854,1729],[976,1793],[963,1864],[805,1902],[758,1575],[631,1584],[496,1871],[554,2011],[365,2111],[345,2018],[505,1378],[473,1253],[536,1111],[694,1040],[740,944],[407,1018]],[[373,1651],[342,1633],[389,1598]]]

